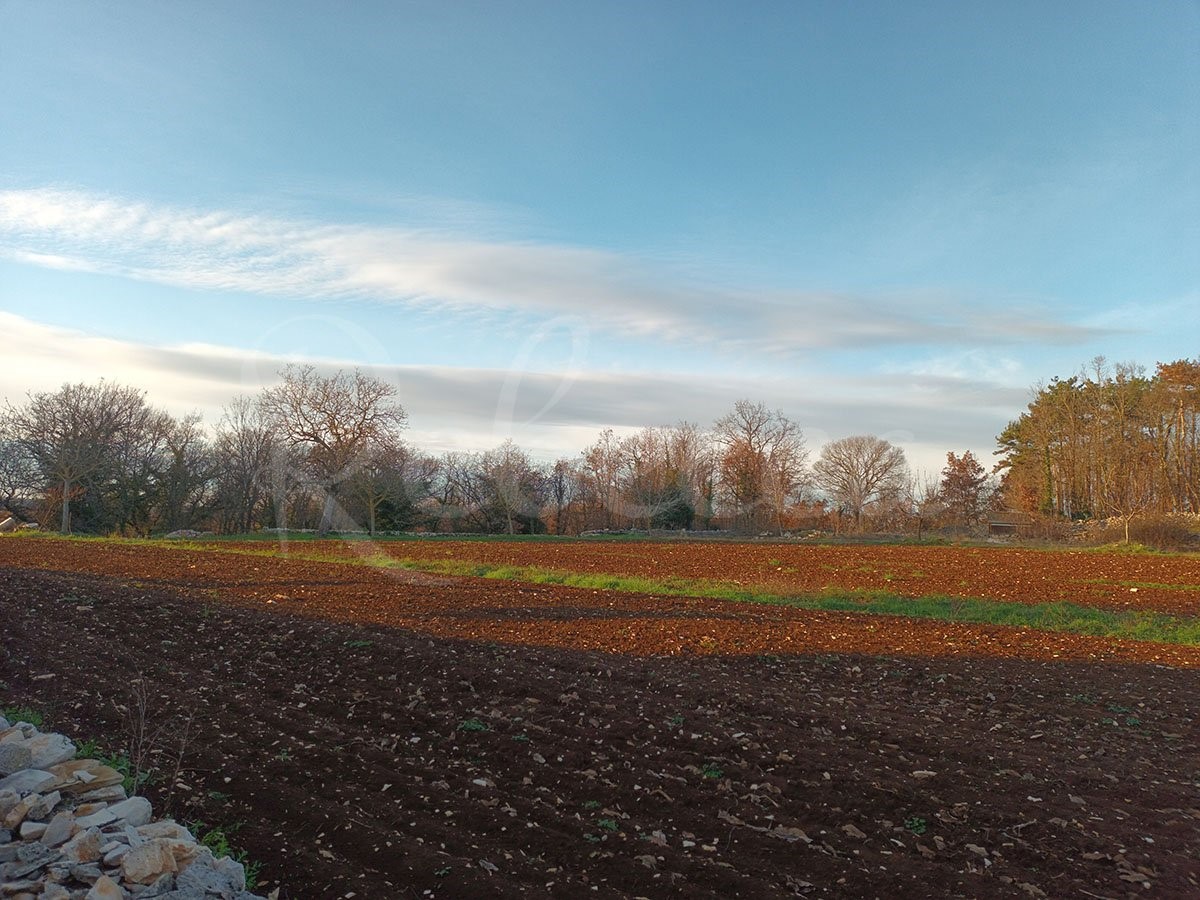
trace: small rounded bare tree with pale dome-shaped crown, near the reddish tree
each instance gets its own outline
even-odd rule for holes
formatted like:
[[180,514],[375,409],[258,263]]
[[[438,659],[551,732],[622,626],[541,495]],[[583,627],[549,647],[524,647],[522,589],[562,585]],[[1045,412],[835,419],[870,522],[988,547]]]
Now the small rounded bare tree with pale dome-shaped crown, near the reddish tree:
[[859,530],[863,510],[902,493],[908,481],[904,450],[874,434],[826,444],[812,470],[817,485],[854,516]]

